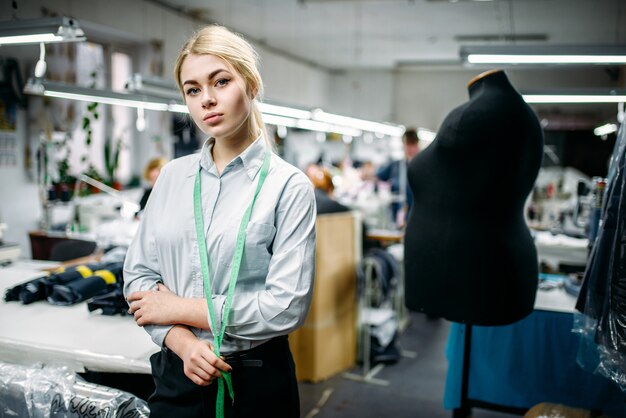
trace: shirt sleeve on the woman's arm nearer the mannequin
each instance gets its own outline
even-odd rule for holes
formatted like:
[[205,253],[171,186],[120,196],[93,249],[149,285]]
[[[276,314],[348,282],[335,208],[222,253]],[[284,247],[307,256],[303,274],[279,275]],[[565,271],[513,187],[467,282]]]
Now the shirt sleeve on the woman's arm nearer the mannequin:
[[276,208],[265,288],[235,295],[226,327],[231,337],[260,340],[288,334],[308,313],[315,276],[315,197],[305,177],[291,180]]

